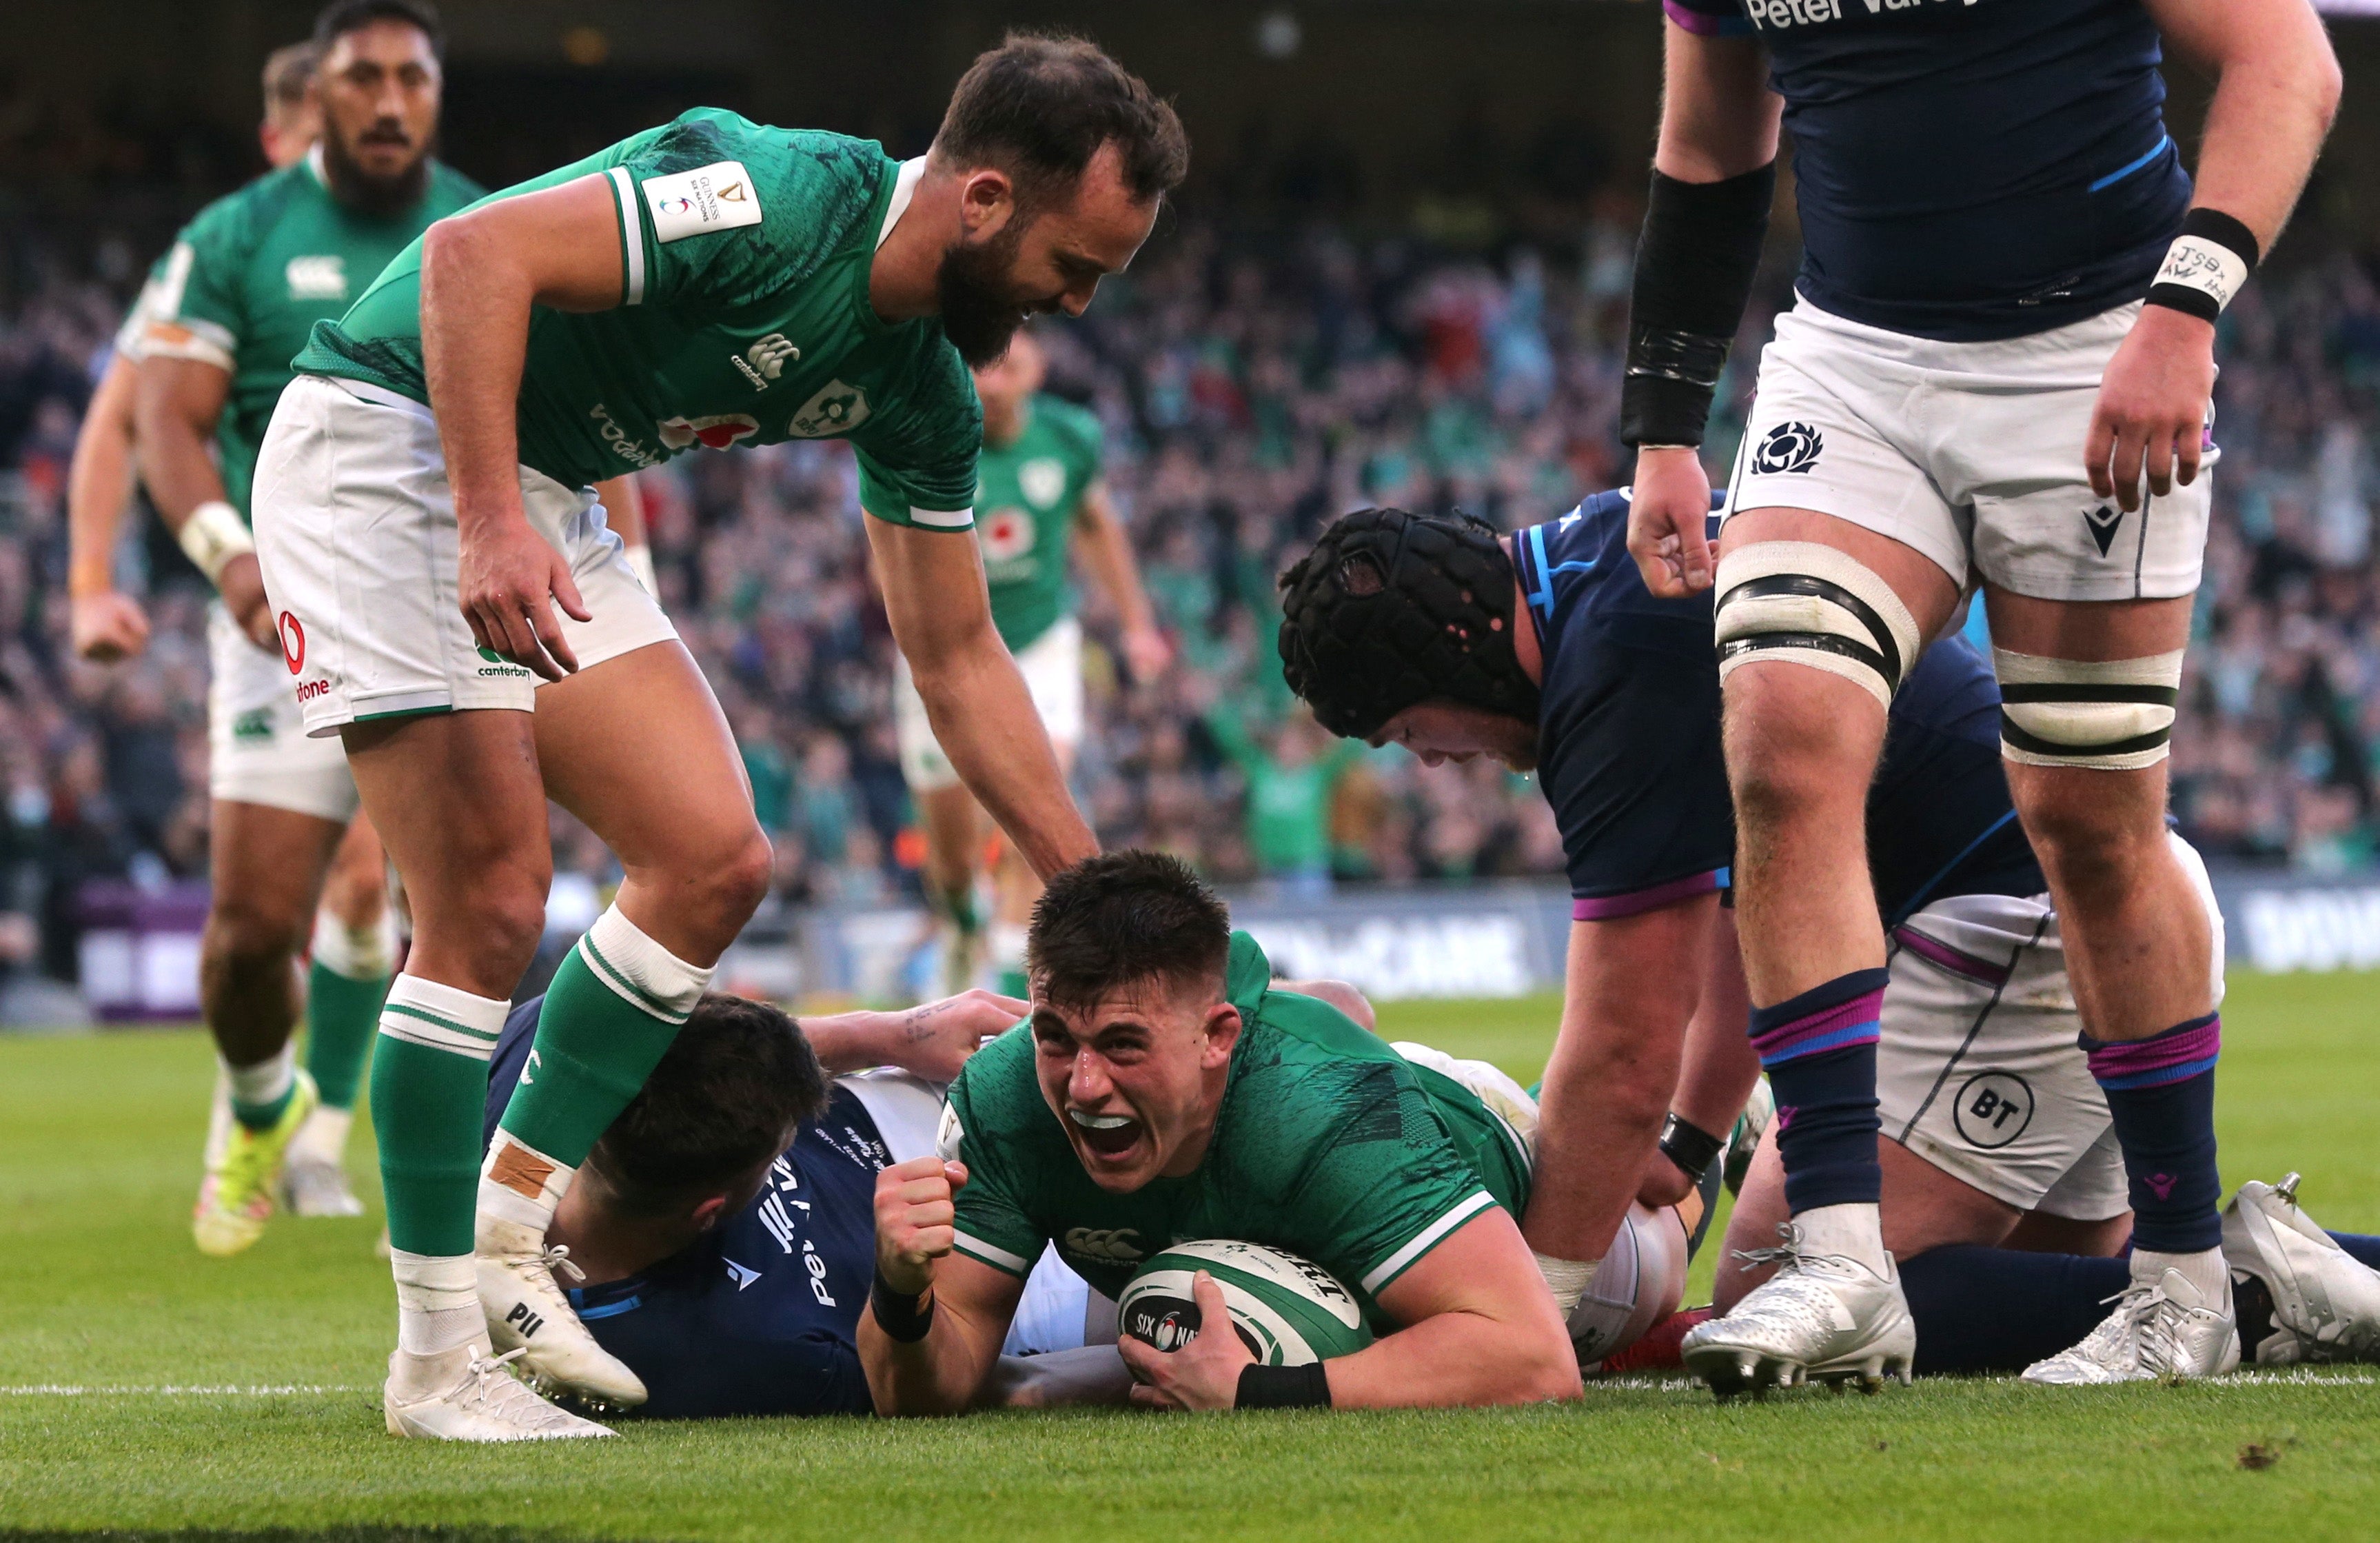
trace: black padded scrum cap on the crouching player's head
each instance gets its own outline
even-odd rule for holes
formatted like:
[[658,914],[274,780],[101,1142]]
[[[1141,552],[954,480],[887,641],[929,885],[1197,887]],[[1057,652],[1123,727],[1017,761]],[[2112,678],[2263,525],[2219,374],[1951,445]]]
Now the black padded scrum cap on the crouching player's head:
[[1485,521],[1357,510],[1280,576],[1280,671],[1345,738],[1430,700],[1535,724],[1511,593],[1511,557]]

